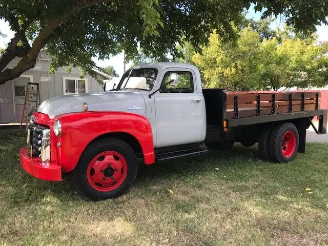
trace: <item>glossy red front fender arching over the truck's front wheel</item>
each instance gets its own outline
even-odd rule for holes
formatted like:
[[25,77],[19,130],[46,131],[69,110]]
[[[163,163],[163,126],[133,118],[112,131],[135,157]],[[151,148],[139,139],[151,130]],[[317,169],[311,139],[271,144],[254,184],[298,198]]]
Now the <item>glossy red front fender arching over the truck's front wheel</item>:
[[[127,133],[135,137],[147,165],[155,162],[153,135],[147,118],[127,112],[80,112],[56,116],[61,122],[60,142],[56,148],[57,163],[64,172],[72,171],[85,148],[95,138],[108,133]],[[56,143],[57,144],[57,143]]]

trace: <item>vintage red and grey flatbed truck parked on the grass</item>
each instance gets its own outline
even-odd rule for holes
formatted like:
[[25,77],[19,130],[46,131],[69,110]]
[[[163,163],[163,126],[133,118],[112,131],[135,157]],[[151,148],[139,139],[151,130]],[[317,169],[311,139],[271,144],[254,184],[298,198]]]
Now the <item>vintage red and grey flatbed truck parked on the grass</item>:
[[[306,129],[327,110],[319,92],[202,89],[195,66],[134,66],[116,89],[51,98],[34,112],[20,163],[36,178],[60,181],[72,172],[77,191],[100,200],[128,191],[137,157],[146,165],[258,142],[262,158],[291,161],[305,151]],[[315,128],[316,129],[316,128]]]

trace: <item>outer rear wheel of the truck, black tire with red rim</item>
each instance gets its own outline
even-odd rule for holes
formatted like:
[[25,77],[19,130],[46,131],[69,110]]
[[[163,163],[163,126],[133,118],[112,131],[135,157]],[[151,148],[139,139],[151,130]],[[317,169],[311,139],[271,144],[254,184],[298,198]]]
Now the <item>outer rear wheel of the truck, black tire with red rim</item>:
[[270,155],[273,161],[289,162],[296,156],[299,135],[292,123],[283,123],[275,127],[270,137]]

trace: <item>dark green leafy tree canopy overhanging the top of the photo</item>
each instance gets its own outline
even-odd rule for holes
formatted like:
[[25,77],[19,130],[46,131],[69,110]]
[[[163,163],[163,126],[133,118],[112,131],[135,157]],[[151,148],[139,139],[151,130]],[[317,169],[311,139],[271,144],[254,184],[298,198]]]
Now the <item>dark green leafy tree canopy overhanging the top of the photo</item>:
[[[326,1],[221,1],[221,0],[0,0],[0,18],[15,32],[0,57],[0,85],[35,66],[45,46],[52,56],[51,69],[78,66],[95,75],[92,57],[100,59],[126,50],[137,54],[178,56],[176,43],[190,42],[196,50],[208,42],[213,29],[222,39],[233,38],[233,23],[244,8],[255,4],[263,15],[282,13],[298,29],[326,23]],[[6,68],[15,57],[20,61]]]

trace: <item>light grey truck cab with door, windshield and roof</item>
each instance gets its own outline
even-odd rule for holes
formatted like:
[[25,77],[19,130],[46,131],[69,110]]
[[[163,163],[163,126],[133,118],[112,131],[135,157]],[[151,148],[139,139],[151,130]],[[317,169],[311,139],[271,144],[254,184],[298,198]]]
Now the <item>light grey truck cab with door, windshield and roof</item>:
[[[170,83],[172,76],[174,86]],[[145,109],[142,115],[151,124],[154,148],[204,140],[206,110],[196,67],[178,63],[135,66],[122,76],[116,91],[110,93],[128,91],[139,93],[145,100],[141,106],[127,105],[127,110],[134,112],[135,106]]]

